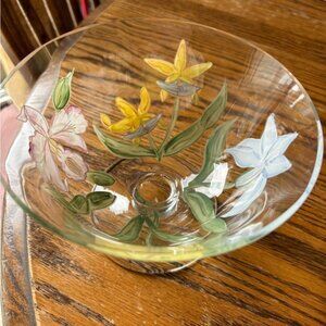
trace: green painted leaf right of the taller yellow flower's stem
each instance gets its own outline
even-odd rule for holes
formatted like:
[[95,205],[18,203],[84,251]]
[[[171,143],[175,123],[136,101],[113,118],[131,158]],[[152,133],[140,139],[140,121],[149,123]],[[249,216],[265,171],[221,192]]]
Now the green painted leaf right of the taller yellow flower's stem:
[[173,137],[164,147],[164,154],[174,155],[196,142],[202,134],[213,127],[222,115],[227,101],[227,86],[223,85],[217,97],[204,110],[202,116],[187,129]]

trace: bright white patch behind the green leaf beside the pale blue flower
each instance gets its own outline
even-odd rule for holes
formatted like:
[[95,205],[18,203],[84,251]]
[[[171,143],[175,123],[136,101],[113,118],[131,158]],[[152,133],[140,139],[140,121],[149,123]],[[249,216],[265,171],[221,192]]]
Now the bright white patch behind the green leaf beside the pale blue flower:
[[[223,192],[227,173],[227,163],[214,164],[213,172],[205,178],[202,186],[196,187],[195,190],[209,198],[218,197]],[[183,188],[186,188],[196,177],[197,174],[190,174],[181,180]]]

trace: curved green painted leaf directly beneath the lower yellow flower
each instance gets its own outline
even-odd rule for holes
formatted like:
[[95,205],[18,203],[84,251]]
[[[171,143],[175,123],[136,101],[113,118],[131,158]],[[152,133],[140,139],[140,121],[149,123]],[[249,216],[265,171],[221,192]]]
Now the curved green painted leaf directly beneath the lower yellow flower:
[[108,148],[108,150],[118,158],[135,159],[143,156],[155,156],[155,153],[151,149],[133,145],[109,134],[103,134],[97,126],[93,126],[93,130],[97,134],[99,140]]

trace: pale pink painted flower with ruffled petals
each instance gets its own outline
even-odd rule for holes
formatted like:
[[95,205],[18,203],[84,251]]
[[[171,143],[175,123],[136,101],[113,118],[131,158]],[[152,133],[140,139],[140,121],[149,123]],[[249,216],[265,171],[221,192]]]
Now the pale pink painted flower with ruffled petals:
[[61,164],[66,176],[75,180],[86,177],[87,165],[83,158],[64,147],[71,147],[87,152],[86,143],[80,134],[85,133],[87,122],[82,111],[68,106],[55,114],[49,127],[45,116],[29,106],[23,108],[21,116],[25,117],[35,135],[30,137],[29,153],[36,162],[43,178],[59,189],[67,191],[66,179],[62,179],[58,164]]

